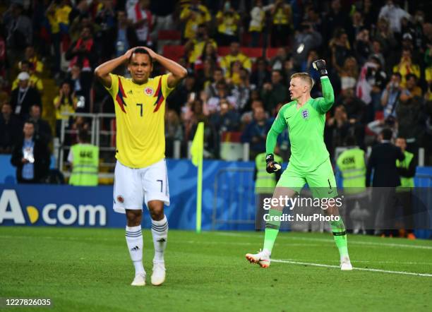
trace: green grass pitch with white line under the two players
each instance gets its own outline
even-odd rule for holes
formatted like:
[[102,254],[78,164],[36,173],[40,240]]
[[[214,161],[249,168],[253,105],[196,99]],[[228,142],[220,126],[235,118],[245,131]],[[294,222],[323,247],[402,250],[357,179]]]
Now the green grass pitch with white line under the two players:
[[272,259],[284,262],[261,269],[244,255],[263,233],[170,230],[167,280],[153,287],[143,233],[148,284],[131,287],[123,229],[1,227],[0,297],[54,305],[4,311],[432,311],[432,241],[349,235],[354,268],[367,270],[341,272],[330,234],[281,233]]

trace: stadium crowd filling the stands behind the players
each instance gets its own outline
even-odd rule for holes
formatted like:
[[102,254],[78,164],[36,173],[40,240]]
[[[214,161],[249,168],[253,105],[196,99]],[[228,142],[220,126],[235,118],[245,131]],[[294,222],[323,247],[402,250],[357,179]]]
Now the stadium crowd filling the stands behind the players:
[[[45,144],[69,128],[89,128],[61,113],[114,112],[93,77],[98,64],[145,45],[188,69],[167,99],[167,156],[174,140],[192,140],[205,123],[205,156],[220,158],[221,141],[250,143],[251,159],[265,151],[266,133],[289,102],[292,73],[320,80],[312,62],[325,59],[335,90],[325,143],[354,136],[373,145],[384,127],[407,139],[407,150],[432,153],[432,23],[426,1],[397,0],[11,0],[0,23],[0,152],[10,153],[23,123],[35,122]],[[167,38],[176,46],[167,49]],[[176,37],[176,33],[179,34]],[[176,42],[176,40],[178,42]],[[256,54],[256,52],[259,54]],[[126,68],[121,69],[125,73]],[[155,65],[154,75],[161,68]],[[42,76],[59,89],[44,95]],[[41,111],[55,111],[52,131]],[[42,115],[44,116],[44,115]],[[114,127],[102,123],[106,130]],[[227,135],[227,133],[237,133]],[[74,143],[76,138],[68,138]],[[279,138],[282,155],[289,139]],[[426,164],[432,160],[426,157]]]

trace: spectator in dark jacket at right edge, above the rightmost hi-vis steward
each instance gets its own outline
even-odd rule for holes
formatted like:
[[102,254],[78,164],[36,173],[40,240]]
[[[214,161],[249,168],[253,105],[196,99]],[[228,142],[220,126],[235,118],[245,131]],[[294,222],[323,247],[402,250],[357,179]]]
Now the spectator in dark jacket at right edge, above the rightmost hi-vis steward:
[[406,138],[407,150],[415,155],[425,132],[424,100],[416,83],[416,76],[407,75],[407,88],[402,90],[396,107],[397,135]]

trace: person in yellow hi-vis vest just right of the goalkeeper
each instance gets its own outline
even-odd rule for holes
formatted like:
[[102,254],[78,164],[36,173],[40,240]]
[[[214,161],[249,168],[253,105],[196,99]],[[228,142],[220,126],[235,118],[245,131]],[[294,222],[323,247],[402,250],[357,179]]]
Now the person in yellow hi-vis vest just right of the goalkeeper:
[[[354,234],[366,233],[365,220],[369,216],[366,209],[366,162],[364,150],[356,146],[353,136],[348,136],[347,150],[337,157],[337,167],[342,174],[342,186],[344,188],[345,209],[344,216],[347,220],[347,230]],[[350,231],[351,232],[351,231]]]

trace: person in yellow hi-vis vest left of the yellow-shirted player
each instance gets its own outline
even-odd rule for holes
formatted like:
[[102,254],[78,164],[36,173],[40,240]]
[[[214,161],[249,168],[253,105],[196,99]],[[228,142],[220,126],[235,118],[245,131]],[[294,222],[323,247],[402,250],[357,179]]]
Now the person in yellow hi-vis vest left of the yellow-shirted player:
[[68,155],[72,164],[69,184],[74,186],[97,186],[99,177],[99,148],[89,143],[87,131],[78,133],[78,144],[73,145]]

